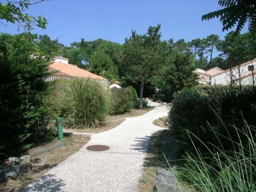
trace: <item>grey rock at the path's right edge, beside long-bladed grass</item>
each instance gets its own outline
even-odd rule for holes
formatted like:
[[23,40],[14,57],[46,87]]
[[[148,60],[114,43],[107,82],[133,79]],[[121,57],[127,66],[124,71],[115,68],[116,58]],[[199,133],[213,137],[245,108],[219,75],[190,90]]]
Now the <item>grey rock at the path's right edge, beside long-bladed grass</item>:
[[157,171],[155,177],[156,191],[157,192],[181,192],[177,186],[177,182],[172,172],[166,169],[161,169]]

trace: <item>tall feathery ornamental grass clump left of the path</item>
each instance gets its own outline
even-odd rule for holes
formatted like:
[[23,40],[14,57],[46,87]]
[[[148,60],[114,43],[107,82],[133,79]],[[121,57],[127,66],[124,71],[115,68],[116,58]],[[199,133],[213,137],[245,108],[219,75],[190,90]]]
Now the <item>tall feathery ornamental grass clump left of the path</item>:
[[96,127],[110,112],[107,90],[92,80],[75,80],[71,83],[69,94],[75,104],[75,127]]

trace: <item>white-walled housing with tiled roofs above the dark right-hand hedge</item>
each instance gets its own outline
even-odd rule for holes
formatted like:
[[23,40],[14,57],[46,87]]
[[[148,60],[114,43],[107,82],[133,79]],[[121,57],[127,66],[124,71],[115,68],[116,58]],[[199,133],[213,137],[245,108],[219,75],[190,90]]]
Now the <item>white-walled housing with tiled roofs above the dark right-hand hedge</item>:
[[256,77],[256,58],[227,70],[215,67],[205,71],[198,68],[195,72],[199,83],[203,84],[229,84],[231,79],[233,83],[252,84]]

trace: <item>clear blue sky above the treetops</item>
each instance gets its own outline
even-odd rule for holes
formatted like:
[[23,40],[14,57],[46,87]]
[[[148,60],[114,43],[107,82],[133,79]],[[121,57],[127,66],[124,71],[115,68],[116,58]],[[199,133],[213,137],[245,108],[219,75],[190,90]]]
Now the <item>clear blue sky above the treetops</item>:
[[[28,12],[48,19],[46,30],[35,28],[32,33],[48,34],[69,45],[81,38],[123,43],[132,30],[145,33],[148,26],[157,24],[162,27],[162,40],[189,41],[210,34],[224,38],[219,19],[201,20],[204,13],[218,9],[217,0],[49,0],[31,6]],[[18,33],[12,24],[0,25],[0,31]]]

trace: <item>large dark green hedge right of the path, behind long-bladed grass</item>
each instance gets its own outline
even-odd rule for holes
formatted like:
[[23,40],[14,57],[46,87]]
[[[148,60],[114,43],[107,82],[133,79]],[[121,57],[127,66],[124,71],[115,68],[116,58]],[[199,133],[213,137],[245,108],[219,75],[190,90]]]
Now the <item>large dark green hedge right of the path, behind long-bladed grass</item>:
[[[243,117],[253,126],[256,125],[256,90],[250,86],[238,87],[233,90],[229,86],[198,86],[184,89],[174,95],[173,106],[170,108],[169,128],[177,137],[181,152],[190,151],[196,154],[195,147],[201,153],[208,149],[202,143],[212,143],[220,147],[218,139],[212,131],[219,135],[231,135],[233,141],[239,142],[235,130],[228,130],[227,125],[242,127]],[[210,126],[210,125],[211,126]],[[225,125],[225,126],[224,126]],[[200,140],[191,142],[191,135]],[[255,134],[255,133],[253,133]],[[232,143],[224,139],[222,147],[229,150]],[[210,146],[209,146],[210,147]],[[212,151],[215,148],[212,146]]]

